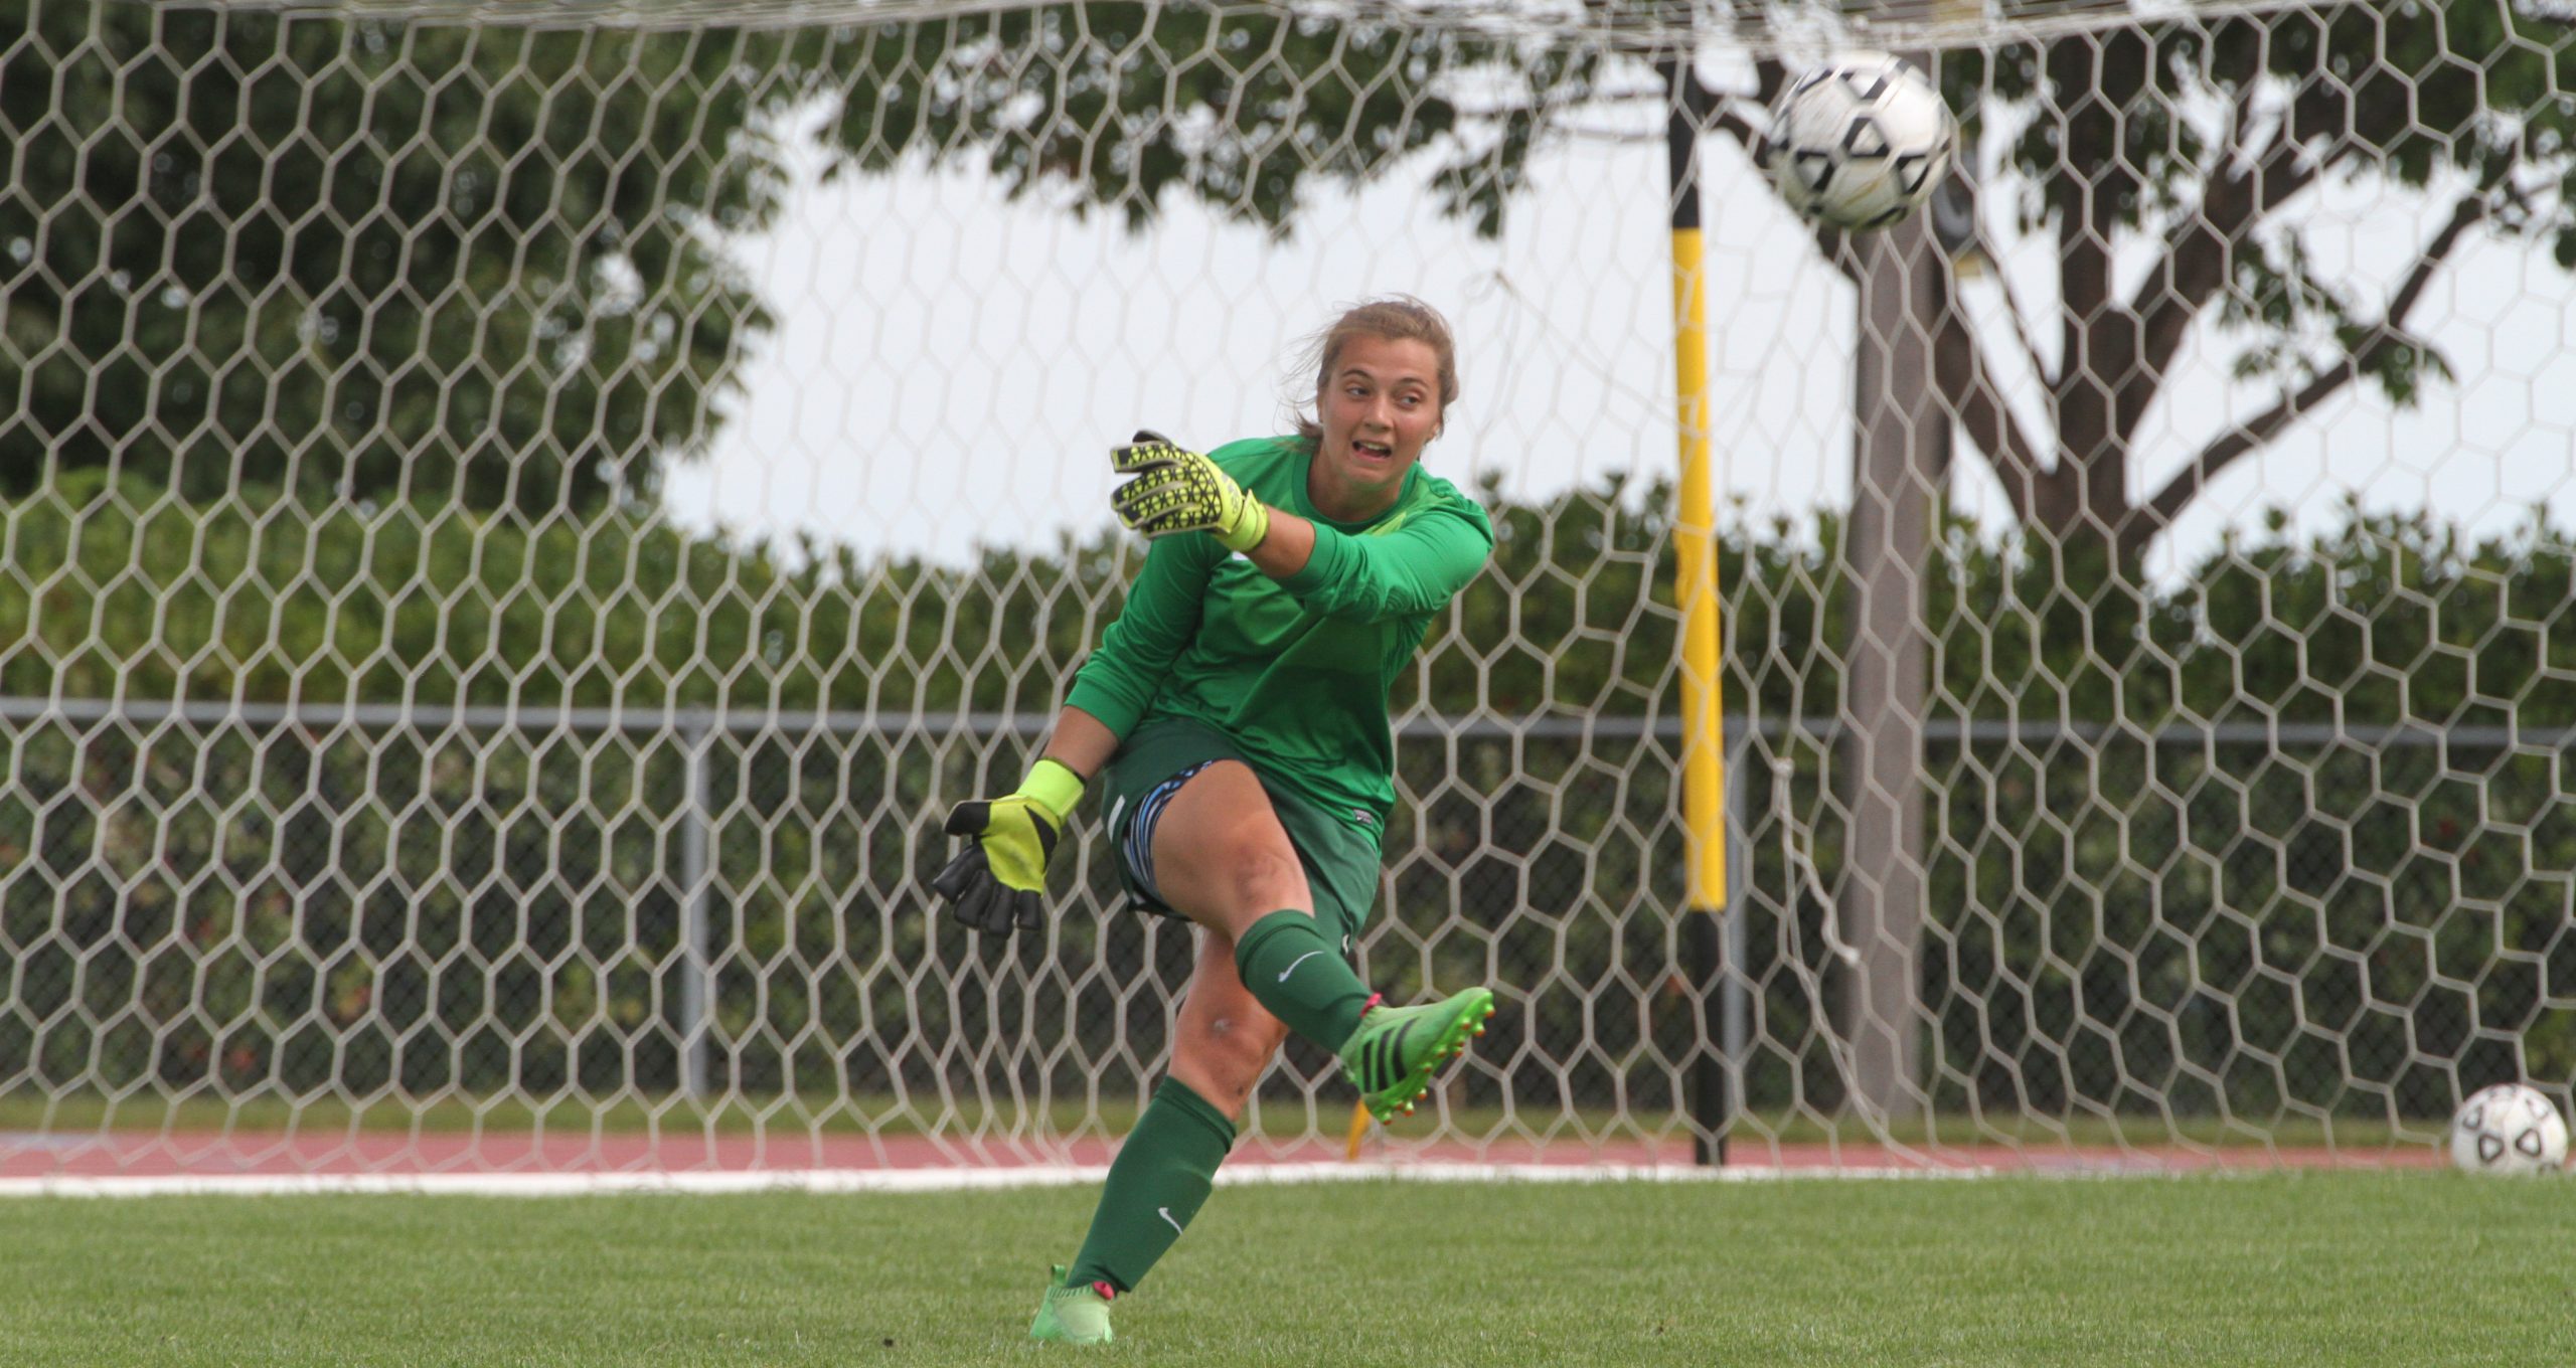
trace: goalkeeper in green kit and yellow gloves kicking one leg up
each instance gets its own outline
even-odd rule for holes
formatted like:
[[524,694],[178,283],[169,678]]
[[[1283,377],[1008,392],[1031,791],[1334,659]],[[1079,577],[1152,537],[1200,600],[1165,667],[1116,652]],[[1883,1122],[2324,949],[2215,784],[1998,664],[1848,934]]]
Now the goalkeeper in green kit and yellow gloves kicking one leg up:
[[1288,1031],[1334,1051],[1378,1121],[1484,1033],[1476,987],[1381,1007],[1345,958],[1378,889],[1394,806],[1386,690],[1494,528],[1422,471],[1458,397],[1448,322],[1376,299],[1316,340],[1316,415],[1208,456],[1154,433],[1110,453],[1118,520],[1154,541],[1082,665],[1046,757],[1007,799],[961,804],[933,881],[966,925],[1038,925],[1046,858],[1092,775],[1139,907],[1200,927],[1172,1072],[1110,1164],[1090,1237],[1056,1268],[1036,1340],[1103,1345],[1208,1201],[1234,1121]]

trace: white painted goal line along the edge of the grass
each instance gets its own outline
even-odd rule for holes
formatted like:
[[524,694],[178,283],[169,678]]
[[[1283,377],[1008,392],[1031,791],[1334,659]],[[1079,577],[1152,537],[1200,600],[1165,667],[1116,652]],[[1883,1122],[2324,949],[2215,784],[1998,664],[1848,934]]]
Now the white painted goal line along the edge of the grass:
[[[1033,1164],[1012,1170],[770,1170],[770,1172],[307,1172],[307,1175],[155,1175],[155,1177],[0,1177],[0,1198],[175,1198],[175,1195],[471,1195],[592,1198],[613,1193],[974,1193],[1002,1188],[1082,1188],[1108,1177],[1105,1164]],[[1221,1170],[1234,1188],[1291,1183],[1777,1183],[1994,1177],[2004,1170],[1958,1167],[1540,1167],[1540,1164],[1244,1164]]]

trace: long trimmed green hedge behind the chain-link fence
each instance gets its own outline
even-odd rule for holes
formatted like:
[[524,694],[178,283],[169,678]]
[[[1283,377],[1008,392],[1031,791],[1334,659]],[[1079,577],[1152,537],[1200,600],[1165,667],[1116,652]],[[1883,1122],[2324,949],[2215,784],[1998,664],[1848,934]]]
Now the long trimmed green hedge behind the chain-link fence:
[[[1682,830],[1669,495],[1499,497],[1494,567],[1401,701],[1440,716],[1633,719],[1641,737],[1399,747],[1388,992],[1528,989],[1489,1059],[1522,1108],[1672,1105]],[[2087,580],[1953,526],[1929,575],[1935,721],[2087,739],[1927,755],[1947,1105],[2267,1118],[2427,1113],[2452,1069],[2576,1077],[2561,727],[2576,546],[2463,544],[2347,510],[2169,587]],[[623,729],[0,724],[0,1087],[562,1095],[675,1087],[685,775],[672,708],[840,708],[860,732],[714,732],[719,1085],[755,1092],[1105,1087],[1149,1072],[1180,935],[1069,915],[1054,948],[922,912],[938,809],[1015,773],[1115,613],[1133,549],[974,567],[732,546],[611,510],[526,520],[245,495],[211,508],[67,477],[0,505],[0,693],[245,703],[618,706]],[[1772,727],[1788,804],[1842,868],[1832,714],[1839,526],[1734,528],[1728,711]],[[2105,623],[2117,623],[2117,631]],[[2089,644],[2089,649],[2087,649]],[[688,721],[701,714],[683,714]],[[2339,721],[2344,739],[2200,729]],[[2447,734],[2383,747],[2372,727]],[[2519,727],[2512,745],[2463,727]],[[1783,868],[1767,773],[1741,871],[1757,1105],[1829,1103],[1824,909]],[[1105,860],[1064,871],[1110,904]],[[1528,1049],[1522,1049],[1528,1046]],[[1316,1059],[1296,1056],[1301,1069]],[[1481,1097],[1476,1095],[1481,1090]],[[1471,1100],[1499,1100],[1476,1085]]]

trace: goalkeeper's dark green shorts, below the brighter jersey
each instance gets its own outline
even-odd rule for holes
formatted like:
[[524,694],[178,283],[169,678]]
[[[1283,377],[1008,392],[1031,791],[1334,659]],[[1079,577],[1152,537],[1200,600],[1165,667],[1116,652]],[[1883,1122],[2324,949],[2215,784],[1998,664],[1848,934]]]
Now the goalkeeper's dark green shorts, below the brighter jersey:
[[1154,822],[1172,791],[1216,760],[1242,760],[1262,781],[1270,812],[1278,814],[1280,827],[1288,830],[1288,845],[1306,866],[1314,917],[1347,953],[1358,945],[1368,909],[1378,902],[1383,855],[1376,830],[1327,817],[1319,806],[1288,793],[1262,775],[1260,765],[1252,765],[1224,732],[1198,721],[1157,719],[1139,727],[1118,745],[1108,770],[1103,770],[1108,778],[1103,812],[1108,812],[1110,860],[1118,866],[1118,881],[1126,884],[1128,897],[1144,912],[1180,915],[1154,891]]

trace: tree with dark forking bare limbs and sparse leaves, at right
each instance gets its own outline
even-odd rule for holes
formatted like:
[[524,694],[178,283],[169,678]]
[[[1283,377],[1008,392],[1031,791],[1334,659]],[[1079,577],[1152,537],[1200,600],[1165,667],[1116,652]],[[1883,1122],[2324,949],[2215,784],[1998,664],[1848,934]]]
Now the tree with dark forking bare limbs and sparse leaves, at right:
[[[2020,229],[2056,250],[2053,309],[2017,307],[2012,337],[1994,340],[1953,307],[1937,337],[1942,399],[2022,526],[2105,544],[2133,577],[2221,471],[2329,397],[2370,381],[2411,404],[2450,374],[2409,319],[2473,229],[2548,240],[2576,268],[2576,39],[2543,10],[2372,0],[1953,54],[1942,75],[1971,144],[2004,149]],[[2391,281],[2334,281],[2285,216],[2329,183],[2450,209]],[[2123,289],[2115,263],[2141,247],[2151,260]],[[2249,335],[2236,374],[2275,402],[2151,471],[2143,420],[2208,322]],[[2004,404],[1996,345],[2043,376],[2053,430]]]

